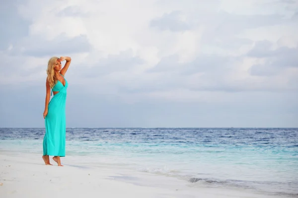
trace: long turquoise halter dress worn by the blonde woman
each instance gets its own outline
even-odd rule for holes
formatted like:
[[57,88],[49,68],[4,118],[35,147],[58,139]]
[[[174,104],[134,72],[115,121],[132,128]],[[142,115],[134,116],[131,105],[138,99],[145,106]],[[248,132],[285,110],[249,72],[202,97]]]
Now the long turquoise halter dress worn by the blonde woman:
[[[61,74],[61,76],[63,75]],[[53,96],[48,105],[48,114],[45,117],[46,133],[43,140],[43,155],[65,156],[65,103],[68,82],[65,78],[64,80],[65,86],[58,80],[52,89],[59,93]]]

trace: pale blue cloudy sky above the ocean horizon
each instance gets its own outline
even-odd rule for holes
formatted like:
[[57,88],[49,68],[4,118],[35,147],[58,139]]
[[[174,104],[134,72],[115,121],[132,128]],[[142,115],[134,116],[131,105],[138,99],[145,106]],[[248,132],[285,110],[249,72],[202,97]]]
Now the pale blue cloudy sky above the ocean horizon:
[[[298,0],[3,0],[0,127],[298,127]],[[64,64],[64,63],[63,63]]]

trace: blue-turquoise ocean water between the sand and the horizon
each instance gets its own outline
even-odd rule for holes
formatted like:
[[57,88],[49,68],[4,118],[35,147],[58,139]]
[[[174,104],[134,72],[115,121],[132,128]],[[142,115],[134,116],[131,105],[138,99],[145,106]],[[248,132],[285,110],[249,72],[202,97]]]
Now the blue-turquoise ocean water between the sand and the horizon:
[[[44,134],[0,128],[0,152],[42,155]],[[85,167],[92,160],[176,177],[192,188],[298,197],[298,128],[67,128],[68,156]]]

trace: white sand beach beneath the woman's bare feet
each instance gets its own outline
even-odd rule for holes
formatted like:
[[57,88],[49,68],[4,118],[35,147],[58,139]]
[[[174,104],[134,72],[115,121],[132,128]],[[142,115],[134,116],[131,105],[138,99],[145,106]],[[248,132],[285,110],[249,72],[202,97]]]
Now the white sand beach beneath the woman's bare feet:
[[94,158],[67,156],[64,167],[41,155],[0,151],[1,198],[269,198],[252,192],[192,187],[164,175],[117,164],[96,164]]

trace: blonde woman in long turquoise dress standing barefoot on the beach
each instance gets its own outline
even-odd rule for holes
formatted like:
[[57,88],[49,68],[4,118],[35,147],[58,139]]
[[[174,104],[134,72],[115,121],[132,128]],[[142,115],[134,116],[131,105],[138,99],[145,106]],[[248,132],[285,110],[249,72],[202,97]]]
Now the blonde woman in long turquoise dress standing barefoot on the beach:
[[[64,67],[61,66],[61,61],[66,60]],[[43,160],[46,165],[50,163],[49,155],[54,155],[53,159],[61,164],[60,157],[65,156],[65,102],[66,90],[68,82],[64,78],[66,71],[71,64],[71,57],[61,56],[52,57],[48,62],[47,81],[46,81],[46,104],[43,113],[45,119],[46,133],[43,140]],[[53,91],[53,98],[51,89]]]

